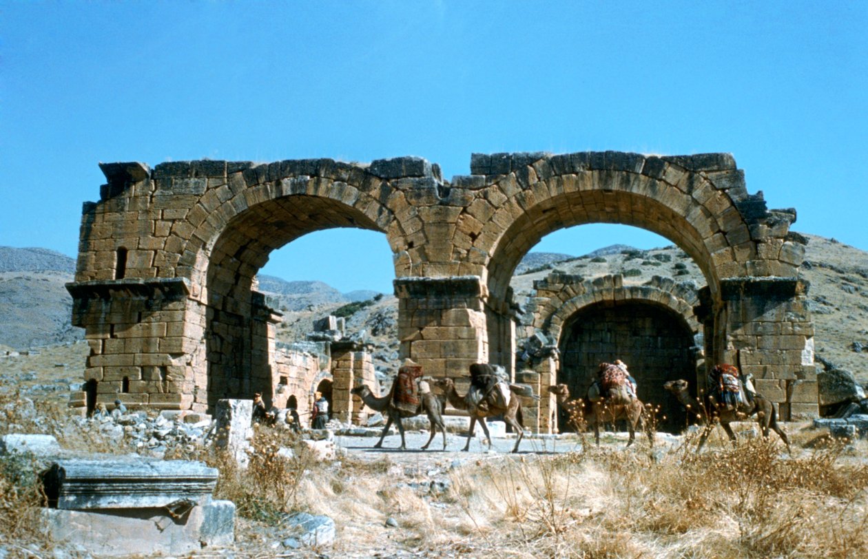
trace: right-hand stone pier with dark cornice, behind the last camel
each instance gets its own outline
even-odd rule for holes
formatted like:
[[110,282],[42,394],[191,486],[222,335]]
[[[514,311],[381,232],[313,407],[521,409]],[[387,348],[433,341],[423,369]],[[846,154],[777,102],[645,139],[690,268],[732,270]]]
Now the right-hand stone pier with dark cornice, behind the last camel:
[[723,357],[753,373],[757,391],[778,405],[785,421],[819,415],[806,291],[791,278],[721,282],[727,320]]

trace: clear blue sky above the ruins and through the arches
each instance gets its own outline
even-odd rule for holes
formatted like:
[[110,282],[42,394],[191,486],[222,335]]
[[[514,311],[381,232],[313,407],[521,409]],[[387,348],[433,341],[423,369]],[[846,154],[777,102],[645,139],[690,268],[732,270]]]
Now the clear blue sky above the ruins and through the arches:
[[[0,0],[0,245],[75,256],[99,161],[731,152],[793,229],[868,250],[868,2]],[[602,227],[602,226],[600,226]],[[669,244],[574,227],[536,250]],[[622,234],[621,234],[622,233]],[[380,234],[264,273],[391,292]]]

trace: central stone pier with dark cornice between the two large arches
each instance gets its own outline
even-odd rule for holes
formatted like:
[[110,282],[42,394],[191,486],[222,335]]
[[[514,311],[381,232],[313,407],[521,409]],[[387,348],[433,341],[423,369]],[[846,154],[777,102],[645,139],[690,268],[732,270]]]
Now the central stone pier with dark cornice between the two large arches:
[[395,279],[401,357],[432,377],[460,378],[489,359],[479,276]]

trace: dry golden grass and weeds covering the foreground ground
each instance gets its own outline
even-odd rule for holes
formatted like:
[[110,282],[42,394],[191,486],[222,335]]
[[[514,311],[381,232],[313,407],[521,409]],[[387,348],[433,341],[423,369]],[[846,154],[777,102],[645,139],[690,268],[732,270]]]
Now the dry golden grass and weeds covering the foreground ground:
[[[3,398],[0,410],[13,397]],[[56,433],[67,448],[108,444],[46,413],[34,432]],[[586,441],[556,455],[462,454],[469,460],[450,468],[455,455],[438,453],[318,462],[292,432],[260,427],[246,470],[213,449],[177,447],[167,457],[220,470],[215,497],[237,506],[236,556],[277,555],[282,520],[299,510],[334,519],[333,556],[868,556],[868,441],[815,444],[818,431],[788,431],[792,454],[777,439],[733,447],[722,435],[696,454],[693,434],[672,450]],[[438,456],[441,473],[429,474]],[[37,464],[16,460],[0,459],[0,537],[49,549],[36,518]],[[431,475],[448,477],[448,489],[429,490]]]

